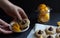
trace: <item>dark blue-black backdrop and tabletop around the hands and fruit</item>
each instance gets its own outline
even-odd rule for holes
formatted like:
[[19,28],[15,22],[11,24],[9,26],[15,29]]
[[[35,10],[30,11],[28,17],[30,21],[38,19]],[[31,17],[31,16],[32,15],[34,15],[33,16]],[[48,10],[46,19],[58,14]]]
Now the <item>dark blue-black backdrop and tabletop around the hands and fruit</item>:
[[[10,35],[0,34],[0,38],[27,38],[30,30],[37,22],[38,12],[37,7],[39,4],[44,3],[51,7],[51,19],[47,24],[56,25],[56,22],[60,20],[60,0],[10,0],[13,4],[22,7],[31,21],[31,25],[28,31],[24,33],[13,33]],[[10,23],[12,18],[7,16],[2,9],[0,9],[0,18]]]

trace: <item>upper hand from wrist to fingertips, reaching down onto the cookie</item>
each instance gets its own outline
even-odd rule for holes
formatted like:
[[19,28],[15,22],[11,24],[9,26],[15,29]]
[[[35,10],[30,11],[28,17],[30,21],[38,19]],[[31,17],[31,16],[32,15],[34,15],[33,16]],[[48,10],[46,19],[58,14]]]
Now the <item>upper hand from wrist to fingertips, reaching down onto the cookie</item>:
[[10,6],[8,9],[5,9],[4,11],[14,19],[18,18],[19,20],[22,20],[28,18],[24,10],[16,5]]

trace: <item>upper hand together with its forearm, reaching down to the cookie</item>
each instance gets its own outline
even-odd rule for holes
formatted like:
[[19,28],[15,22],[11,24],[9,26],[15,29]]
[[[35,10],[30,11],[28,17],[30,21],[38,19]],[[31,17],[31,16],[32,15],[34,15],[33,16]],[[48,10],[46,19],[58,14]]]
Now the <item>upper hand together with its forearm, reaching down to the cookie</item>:
[[10,15],[11,17],[18,18],[19,20],[28,18],[25,14],[24,10],[21,7],[18,7],[12,4],[9,1],[2,1],[2,9],[5,11],[6,14]]

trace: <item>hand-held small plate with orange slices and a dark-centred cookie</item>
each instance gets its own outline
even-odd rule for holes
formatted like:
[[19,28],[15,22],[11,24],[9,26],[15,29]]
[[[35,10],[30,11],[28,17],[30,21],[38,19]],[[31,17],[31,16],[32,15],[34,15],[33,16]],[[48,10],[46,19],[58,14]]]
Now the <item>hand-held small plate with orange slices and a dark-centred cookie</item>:
[[22,32],[29,28],[30,21],[28,19],[24,19],[23,21],[13,21],[11,22],[10,29],[13,32]]

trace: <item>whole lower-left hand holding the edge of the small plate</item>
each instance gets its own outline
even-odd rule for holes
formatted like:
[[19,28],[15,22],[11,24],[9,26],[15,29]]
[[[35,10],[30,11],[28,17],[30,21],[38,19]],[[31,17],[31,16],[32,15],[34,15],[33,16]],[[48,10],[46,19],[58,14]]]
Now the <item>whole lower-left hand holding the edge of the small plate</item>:
[[12,31],[9,30],[9,24],[0,19],[0,33],[11,34]]

